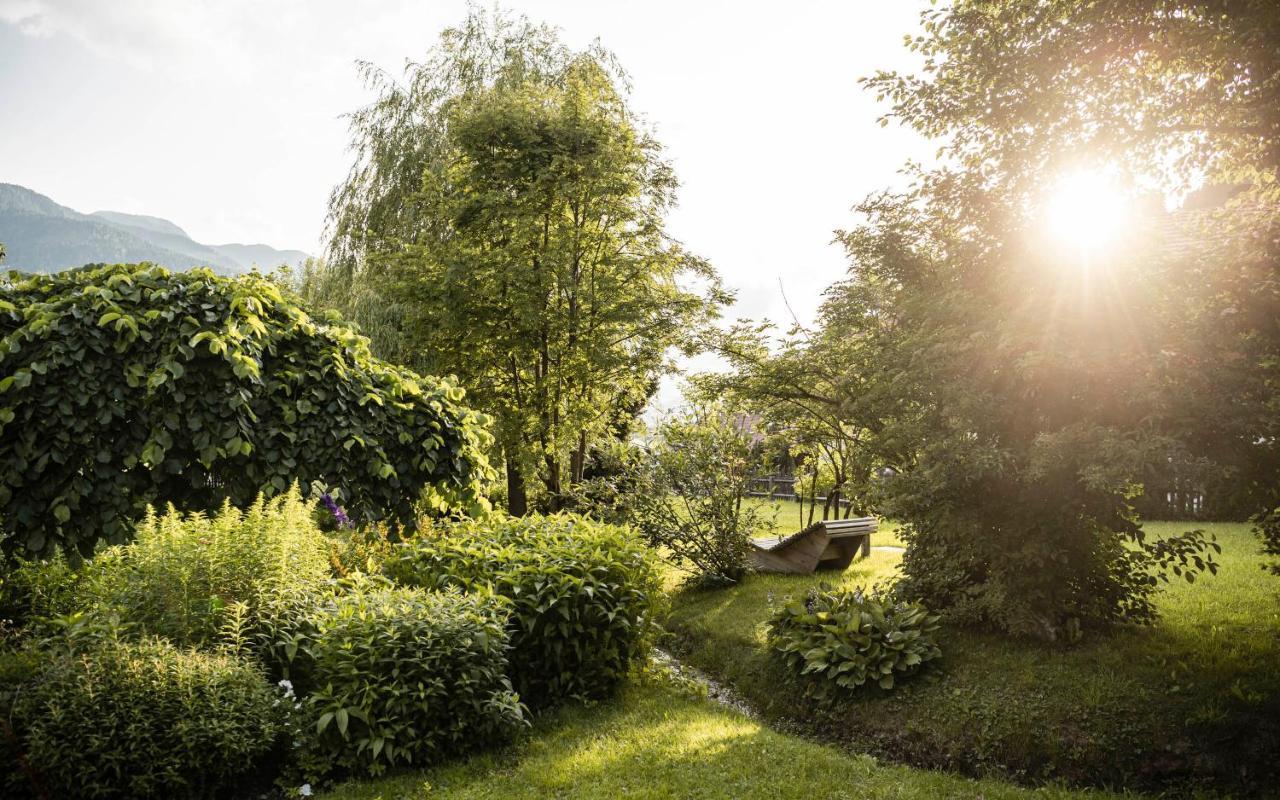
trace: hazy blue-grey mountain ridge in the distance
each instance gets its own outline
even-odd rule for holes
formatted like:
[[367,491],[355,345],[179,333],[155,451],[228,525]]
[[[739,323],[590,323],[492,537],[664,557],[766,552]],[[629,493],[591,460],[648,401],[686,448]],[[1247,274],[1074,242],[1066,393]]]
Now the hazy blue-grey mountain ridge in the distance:
[[238,275],[259,266],[297,265],[298,250],[266,244],[201,244],[166,219],[95,211],[81,214],[13,183],[0,183],[0,268],[55,273],[84,264],[155,261],[172,269],[210,266]]

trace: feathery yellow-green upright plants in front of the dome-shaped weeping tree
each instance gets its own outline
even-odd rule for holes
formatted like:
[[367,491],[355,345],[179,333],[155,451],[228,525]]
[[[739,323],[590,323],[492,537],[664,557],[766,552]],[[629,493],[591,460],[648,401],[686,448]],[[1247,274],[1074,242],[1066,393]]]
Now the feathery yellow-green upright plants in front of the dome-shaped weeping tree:
[[296,485],[212,517],[148,511],[131,544],[93,559],[92,594],[147,634],[210,644],[228,627],[247,635],[275,598],[325,584],[329,548]]

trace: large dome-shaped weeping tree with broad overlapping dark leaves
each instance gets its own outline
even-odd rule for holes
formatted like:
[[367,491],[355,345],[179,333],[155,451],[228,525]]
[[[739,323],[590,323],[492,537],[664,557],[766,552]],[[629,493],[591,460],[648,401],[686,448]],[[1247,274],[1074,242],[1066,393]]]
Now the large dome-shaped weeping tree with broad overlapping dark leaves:
[[294,480],[357,522],[477,511],[483,417],[271,282],[148,264],[0,278],[0,547],[90,554],[148,504]]

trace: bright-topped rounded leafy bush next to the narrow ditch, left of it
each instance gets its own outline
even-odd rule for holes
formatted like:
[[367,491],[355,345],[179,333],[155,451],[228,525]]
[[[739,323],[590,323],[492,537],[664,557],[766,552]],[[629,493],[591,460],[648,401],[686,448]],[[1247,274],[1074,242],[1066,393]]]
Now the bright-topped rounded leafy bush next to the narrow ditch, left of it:
[[634,531],[571,515],[440,522],[397,545],[387,572],[507,598],[512,682],[534,705],[612,690],[645,652],[660,596]]

